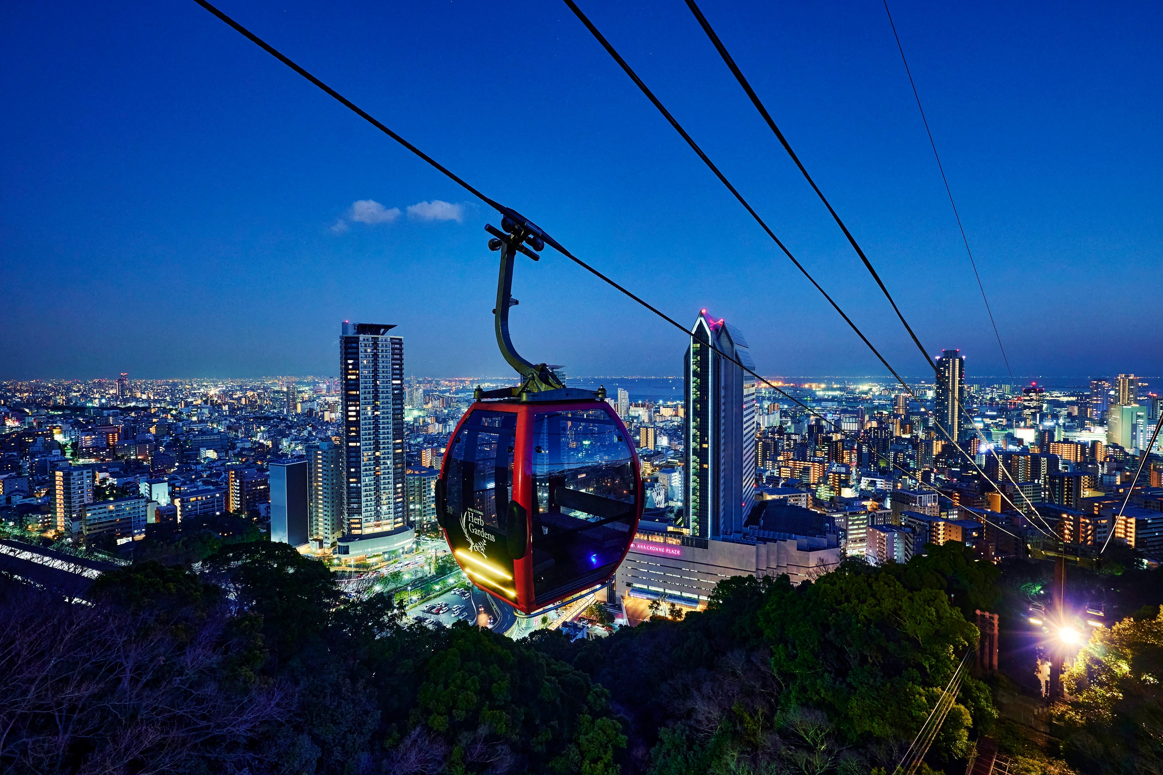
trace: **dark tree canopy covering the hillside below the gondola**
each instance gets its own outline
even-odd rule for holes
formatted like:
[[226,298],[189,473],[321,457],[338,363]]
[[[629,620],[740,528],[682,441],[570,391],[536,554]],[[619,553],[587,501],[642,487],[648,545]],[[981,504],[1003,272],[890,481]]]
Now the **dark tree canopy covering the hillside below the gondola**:
[[[976,641],[964,607],[996,594],[956,546],[799,587],[727,579],[706,611],[598,640],[513,641],[347,598],[283,544],[221,545],[198,567],[107,573],[91,605],[0,580],[0,767],[891,770]],[[992,717],[966,679],[930,763],[963,767]]]

